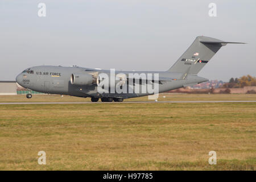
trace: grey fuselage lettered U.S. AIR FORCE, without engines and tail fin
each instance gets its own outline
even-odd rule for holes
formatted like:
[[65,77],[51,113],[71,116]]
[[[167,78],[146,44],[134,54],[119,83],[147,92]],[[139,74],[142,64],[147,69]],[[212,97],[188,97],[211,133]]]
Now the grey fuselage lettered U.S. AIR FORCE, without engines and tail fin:
[[[75,85],[71,83],[73,73],[89,73],[98,75],[100,73],[110,73],[109,70],[90,69],[81,67],[61,67],[61,66],[38,66],[30,67],[24,70],[16,77],[16,82],[24,88],[36,92],[63,94],[77,97],[113,97],[113,98],[131,98],[147,96],[151,93],[112,93],[100,94],[97,90],[97,83],[88,85]],[[116,71],[116,73],[158,73],[159,74],[159,93],[168,90],[191,86],[200,82],[208,81],[206,78],[188,74],[182,79],[183,73],[177,72],[134,72],[134,71]],[[161,78],[164,78],[163,81]]]

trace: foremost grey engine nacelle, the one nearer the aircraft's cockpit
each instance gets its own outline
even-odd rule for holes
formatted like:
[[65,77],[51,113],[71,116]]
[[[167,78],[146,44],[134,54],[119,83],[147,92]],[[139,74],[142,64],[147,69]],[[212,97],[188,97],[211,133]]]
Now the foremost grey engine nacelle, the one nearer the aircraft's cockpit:
[[90,85],[96,79],[88,73],[72,73],[70,82],[72,85]]

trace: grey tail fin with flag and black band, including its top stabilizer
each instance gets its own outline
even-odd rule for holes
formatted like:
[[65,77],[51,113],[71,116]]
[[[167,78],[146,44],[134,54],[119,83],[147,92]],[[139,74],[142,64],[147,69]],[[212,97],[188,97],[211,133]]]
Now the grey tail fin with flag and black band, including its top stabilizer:
[[183,53],[168,71],[197,74],[214,54],[222,46],[226,46],[227,43],[244,44],[238,42],[224,42],[207,36],[197,36],[187,51]]

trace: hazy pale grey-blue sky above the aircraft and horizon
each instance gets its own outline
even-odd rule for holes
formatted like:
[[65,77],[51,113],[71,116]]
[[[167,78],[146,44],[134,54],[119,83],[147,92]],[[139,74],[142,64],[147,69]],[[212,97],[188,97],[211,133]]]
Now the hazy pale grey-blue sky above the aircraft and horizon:
[[255,0],[1,0],[0,80],[35,65],[166,71],[199,35],[248,43],[222,47],[199,76],[256,76],[255,11]]

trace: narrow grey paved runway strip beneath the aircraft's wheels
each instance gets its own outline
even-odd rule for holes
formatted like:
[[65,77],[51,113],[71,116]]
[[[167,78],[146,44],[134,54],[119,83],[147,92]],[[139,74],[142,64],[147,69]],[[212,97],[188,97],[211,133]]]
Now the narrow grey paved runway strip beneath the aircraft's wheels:
[[[112,102],[117,104],[152,104],[152,103],[226,103],[226,102],[256,102],[256,101],[130,101]],[[0,105],[22,105],[22,104],[110,104],[111,102],[0,102]]]

